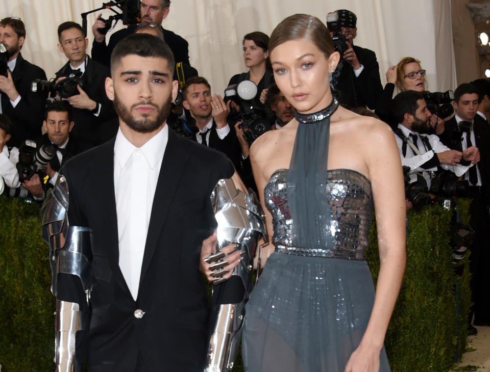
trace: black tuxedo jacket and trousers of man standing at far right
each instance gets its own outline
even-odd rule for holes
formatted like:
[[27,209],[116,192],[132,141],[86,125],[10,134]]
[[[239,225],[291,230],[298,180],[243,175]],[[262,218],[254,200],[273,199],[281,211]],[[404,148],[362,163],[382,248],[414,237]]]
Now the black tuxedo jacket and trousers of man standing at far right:
[[[443,143],[454,148],[452,141],[457,128],[456,118],[453,117],[444,125],[444,132],[440,135]],[[473,131],[475,132],[475,144],[480,151],[480,162],[477,163],[480,171],[482,187],[470,187],[470,224],[475,230],[475,238],[470,248],[470,287],[472,290],[472,301],[474,303],[472,313],[475,313],[475,323],[484,322],[490,324],[490,250],[488,250],[488,228],[490,220],[488,217],[488,206],[490,205],[490,126],[476,115],[473,120]],[[471,317],[471,315],[470,315]]]

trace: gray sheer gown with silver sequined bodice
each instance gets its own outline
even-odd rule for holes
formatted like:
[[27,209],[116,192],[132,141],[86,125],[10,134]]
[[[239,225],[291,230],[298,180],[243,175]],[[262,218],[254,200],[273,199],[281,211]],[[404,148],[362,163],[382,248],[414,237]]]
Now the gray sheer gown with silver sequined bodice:
[[[250,372],[341,372],[359,345],[374,303],[364,260],[371,183],[353,170],[325,170],[309,191],[315,198],[310,215],[295,219],[288,173],[277,170],[264,190],[276,251],[246,305],[244,367]],[[318,244],[304,246],[296,225],[311,219],[316,232],[310,235]],[[380,362],[380,371],[390,370],[384,348]]]

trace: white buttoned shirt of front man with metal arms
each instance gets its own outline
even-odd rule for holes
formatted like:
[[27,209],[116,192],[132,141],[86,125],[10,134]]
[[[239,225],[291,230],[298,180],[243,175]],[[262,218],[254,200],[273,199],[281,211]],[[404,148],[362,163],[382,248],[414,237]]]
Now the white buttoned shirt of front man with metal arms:
[[114,144],[119,268],[135,301],[153,198],[167,141],[168,125],[165,125],[139,148],[129,142],[120,129]]

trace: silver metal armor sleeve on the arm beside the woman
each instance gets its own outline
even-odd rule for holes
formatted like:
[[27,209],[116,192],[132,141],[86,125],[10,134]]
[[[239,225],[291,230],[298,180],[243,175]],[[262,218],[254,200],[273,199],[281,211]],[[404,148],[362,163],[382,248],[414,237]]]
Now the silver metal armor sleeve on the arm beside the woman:
[[[255,194],[237,190],[231,179],[221,179],[211,194],[219,249],[235,244],[243,259],[232,272],[243,284],[244,296],[236,303],[222,304],[215,310],[208,347],[206,372],[224,372],[233,368],[243,326],[244,306],[252,291],[253,260],[259,238],[267,240],[264,215]],[[231,280],[231,279],[229,279]]]

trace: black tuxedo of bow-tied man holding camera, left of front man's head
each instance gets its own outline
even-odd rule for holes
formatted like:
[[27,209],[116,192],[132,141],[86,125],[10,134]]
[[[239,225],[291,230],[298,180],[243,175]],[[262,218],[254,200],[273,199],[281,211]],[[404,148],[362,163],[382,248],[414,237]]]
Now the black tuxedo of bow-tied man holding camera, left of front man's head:
[[[70,63],[67,62],[56,73],[56,77],[68,77],[71,71]],[[99,116],[95,116],[89,110],[72,109],[72,120],[75,122],[72,135],[92,147],[102,143],[99,139],[99,130],[102,123],[116,116],[114,104],[106,95],[105,81],[106,77],[109,76],[110,71],[106,66],[93,61],[87,56],[85,72],[81,77],[81,88],[90,99],[100,104],[100,113]]]

